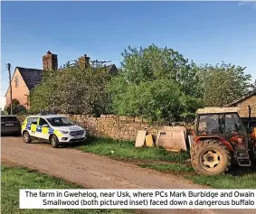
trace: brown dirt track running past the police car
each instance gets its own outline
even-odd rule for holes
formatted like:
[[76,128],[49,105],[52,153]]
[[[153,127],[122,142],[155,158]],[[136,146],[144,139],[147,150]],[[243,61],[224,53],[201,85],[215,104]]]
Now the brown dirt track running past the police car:
[[[139,168],[74,149],[24,144],[21,137],[2,137],[2,159],[19,163],[92,189],[202,189],[174,175]],[[146,209],[147,213],[256,214],[255,209]]]

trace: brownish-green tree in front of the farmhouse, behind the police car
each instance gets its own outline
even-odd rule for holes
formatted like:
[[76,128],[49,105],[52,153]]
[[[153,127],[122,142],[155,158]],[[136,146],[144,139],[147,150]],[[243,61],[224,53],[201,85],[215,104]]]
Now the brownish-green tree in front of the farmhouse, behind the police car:
[[62,70],[44,71],[43,81],[30,94],[31,111],[54,111],[69,114],[106,113],[109,96],[106,84],[110,79],[100,62],[82,69],[77,62]]

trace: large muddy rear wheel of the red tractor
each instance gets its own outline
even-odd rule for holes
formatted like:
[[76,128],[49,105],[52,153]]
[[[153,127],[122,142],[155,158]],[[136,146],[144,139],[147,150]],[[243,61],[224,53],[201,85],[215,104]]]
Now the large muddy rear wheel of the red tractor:
[[229,171],[231,154],[216,140],[204,140],[194,145],[191,162],[195,172],[204,175],[218,175]]

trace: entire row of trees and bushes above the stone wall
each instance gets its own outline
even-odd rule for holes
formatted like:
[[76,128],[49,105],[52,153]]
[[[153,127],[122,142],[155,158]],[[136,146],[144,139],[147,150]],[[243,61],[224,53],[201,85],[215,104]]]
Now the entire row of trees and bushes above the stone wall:
[[43,81],[29,96],[31,111],[113,113],[171,123],[194,120],[198,107],[223,107],[252,88],[245,68],[224,62],[199,66],[178,51],[154,44],[128,46],[122,57],[115,77],[98,60],[88,69],[75,60],[61,70],[44,71]]

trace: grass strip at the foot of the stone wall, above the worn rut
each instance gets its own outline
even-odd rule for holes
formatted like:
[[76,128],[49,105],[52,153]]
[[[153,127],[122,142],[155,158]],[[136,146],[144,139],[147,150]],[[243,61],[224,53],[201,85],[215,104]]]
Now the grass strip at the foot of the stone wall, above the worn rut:
[[109,156],[114,159],[122,160],[144,160],[144,161],[164,161],[183,163],[189,158],[189,154],[167,152],[163,148],[136,148],[134,143],[126,141],[118,141],[108,138],[90,137],[86,144],[77,149],[82,152],[100,154]]

